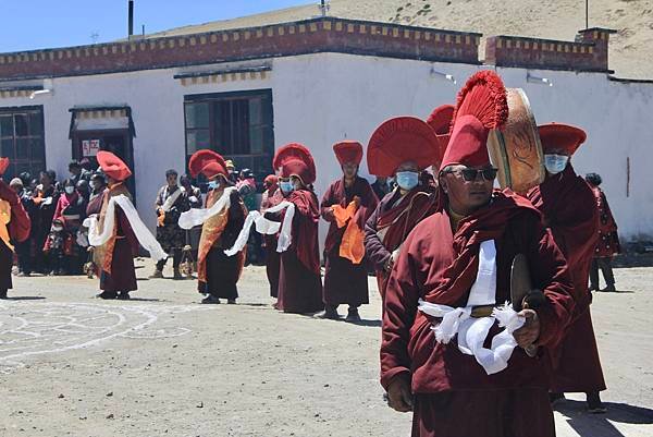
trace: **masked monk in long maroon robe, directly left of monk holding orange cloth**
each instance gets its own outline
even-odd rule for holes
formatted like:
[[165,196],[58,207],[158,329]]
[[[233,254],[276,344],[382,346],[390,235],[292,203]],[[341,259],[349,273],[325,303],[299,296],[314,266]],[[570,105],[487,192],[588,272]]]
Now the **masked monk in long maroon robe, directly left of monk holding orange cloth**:
[[[291,245],[281,254],[278,309],[308,314],[324,308],[318,222],[320,205],[309,187],[316,181],[312,156],[300,144],[288,144],[276,150],[274,168],[281,168],[280,186],[285,201],[295,206]],[[267,213],[270,219],[283,220],[287,210]]]

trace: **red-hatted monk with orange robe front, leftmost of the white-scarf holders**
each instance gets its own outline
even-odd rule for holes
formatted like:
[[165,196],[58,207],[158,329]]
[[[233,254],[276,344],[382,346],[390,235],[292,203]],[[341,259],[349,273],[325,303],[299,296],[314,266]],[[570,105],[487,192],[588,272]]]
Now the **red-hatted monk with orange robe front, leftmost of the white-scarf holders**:
[[[108,187],[102,194],[102,207],[98,218],[100,232],[108,220],[108,207],[112,197],[124,195],[132,201],[132,194],[124,181],[132,175],[130,168],[109,151],[98,153],[98,163],[107,175]],[[100,270],[100,299],[128,300],[130,292],[138,289],[134,257],[140,247],[132,230],[127,216],[115,204],[113,231],[109,240],[94,248],[94,259]]]

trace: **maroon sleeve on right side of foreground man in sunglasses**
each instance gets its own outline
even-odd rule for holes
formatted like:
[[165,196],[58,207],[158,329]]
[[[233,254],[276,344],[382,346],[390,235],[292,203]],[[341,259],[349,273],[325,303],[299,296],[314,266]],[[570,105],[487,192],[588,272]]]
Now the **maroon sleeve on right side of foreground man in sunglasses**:
[[533,284],[544,293],[546,303],[537,309],[540,318],[539,345],[555,344],[564,335],[574,311],[574,288],[567,262],[549,230],[539,220],[530,221],[527,235]]

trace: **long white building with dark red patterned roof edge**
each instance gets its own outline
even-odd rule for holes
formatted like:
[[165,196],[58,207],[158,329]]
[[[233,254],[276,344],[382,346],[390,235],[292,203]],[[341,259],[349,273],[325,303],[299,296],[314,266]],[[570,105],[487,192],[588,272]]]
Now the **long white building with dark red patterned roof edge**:
[[261,178],[276,147],[301,142],[315,155],[320,196],[341,174],[334,142],[365,144],[394,116],[426,118],[491,68],[526,90],[538,122],[588,132],[577,171],[603,177],[621,238],[653,240],[653,81],[611,75],[609,33],[583,31],[574,43],[492,37],[488,64],[478,60],[479,34],[334,17],[0,53],[1,155],[12,175],[51,168],[65,177],[93,146],[114,150],[153,227],[148,211],[164,171],[183,173],[198,148]]

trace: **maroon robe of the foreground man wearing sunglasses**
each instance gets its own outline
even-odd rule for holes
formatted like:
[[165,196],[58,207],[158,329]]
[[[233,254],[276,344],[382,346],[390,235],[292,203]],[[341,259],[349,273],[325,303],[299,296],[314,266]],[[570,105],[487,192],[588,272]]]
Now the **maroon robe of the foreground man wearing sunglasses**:
[[[571,315],[565,258],[528,201],[495,192],[491,204],[460,220],[455,234],[445,210],[421,221],[406,239],[390,276],[381,345],[383,387],[387,389],[397,376],[411,379],[417,401],[415,436],[555,435],[546,394],[547,360],[528,357],[516,348],[507,368],[488,375],[473,356],[458,350],[456,339],[436,343],[431,327],[439,319],[417,309],[419,299],[465,306],[476,281],[479,247],[486,240],[494,240],[496,246],[497,304],[510,299],[514,257],[525,254],[529,260],[533,283],[546,296],[546,304],[538,309],[539,345],[558,341]],[[498,331],[495,323],[488,342]],[[521,403],[523,399],[529,403]]]

